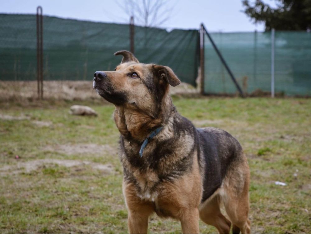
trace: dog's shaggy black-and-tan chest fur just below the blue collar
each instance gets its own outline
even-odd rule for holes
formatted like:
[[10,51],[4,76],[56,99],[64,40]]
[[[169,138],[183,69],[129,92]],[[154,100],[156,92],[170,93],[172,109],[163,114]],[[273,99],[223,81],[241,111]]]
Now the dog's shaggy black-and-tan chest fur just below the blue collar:
[[142,157],[139,156],[141,144],[121,136],[120,159],[124,179],[135,184],[137,195],[144,200],[155,201],[163,182],[174,182],[191,170],[196,145],[193,126],[178,125],[178,118],[172,118],[147,144]]

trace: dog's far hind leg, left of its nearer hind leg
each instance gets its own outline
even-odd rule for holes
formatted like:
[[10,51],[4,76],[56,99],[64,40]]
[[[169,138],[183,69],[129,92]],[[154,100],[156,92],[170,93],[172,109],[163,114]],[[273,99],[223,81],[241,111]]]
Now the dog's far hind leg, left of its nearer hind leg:
[[206,201],[200,208],[200,218],[206,224],[217,228],[219,233],[230,232],[230,221],[220,212],[219,196],[214,196],[210,201]]

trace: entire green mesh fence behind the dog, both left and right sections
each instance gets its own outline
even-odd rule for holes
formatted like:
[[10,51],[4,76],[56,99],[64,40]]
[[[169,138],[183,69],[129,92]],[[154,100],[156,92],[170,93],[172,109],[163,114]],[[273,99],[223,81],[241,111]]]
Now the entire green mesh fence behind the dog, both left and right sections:
[[[245,94],[271,91],[272,62],[277,95],[311,96],[311,33],[210,33]],[[237,87],[207,35],[203,35],[202,93],[236,94]],[[37,77],[36,15],[0,14],[0,80]],[[198,30],[165,29],[43,17],[44,81],[91,80],[96,70],[112,70],[119,50],[134,50],[144,63],[171,67],[181,81],[196,86]],[[272,42],[275,59],[272,61]],[[201,53],[202,54],[202,53]]]

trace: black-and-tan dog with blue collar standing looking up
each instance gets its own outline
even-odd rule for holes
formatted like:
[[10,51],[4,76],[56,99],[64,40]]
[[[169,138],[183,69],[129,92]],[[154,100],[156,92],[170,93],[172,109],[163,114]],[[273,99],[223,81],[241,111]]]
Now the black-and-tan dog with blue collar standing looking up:
[[[172,217],[183,233],[199,218],[220,233],[250,233],[250,173],[239,142],[224,130],[195,128],[172,104],[167,66],[143,64],[129,51],[114,71],[97,71],[93,88],[115,105],[123,195],[130,233],[147,233],[148,217]],[[220,212],[224,205],[230,221]]]

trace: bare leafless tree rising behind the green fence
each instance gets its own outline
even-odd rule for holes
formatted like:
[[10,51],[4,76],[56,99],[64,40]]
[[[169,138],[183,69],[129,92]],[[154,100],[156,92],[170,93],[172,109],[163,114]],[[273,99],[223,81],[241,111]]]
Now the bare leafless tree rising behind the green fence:
[[129,17],[134,16],[135,24],[145,27],[164,24],[173,9],[168,0],[123,0],[117,3]]

